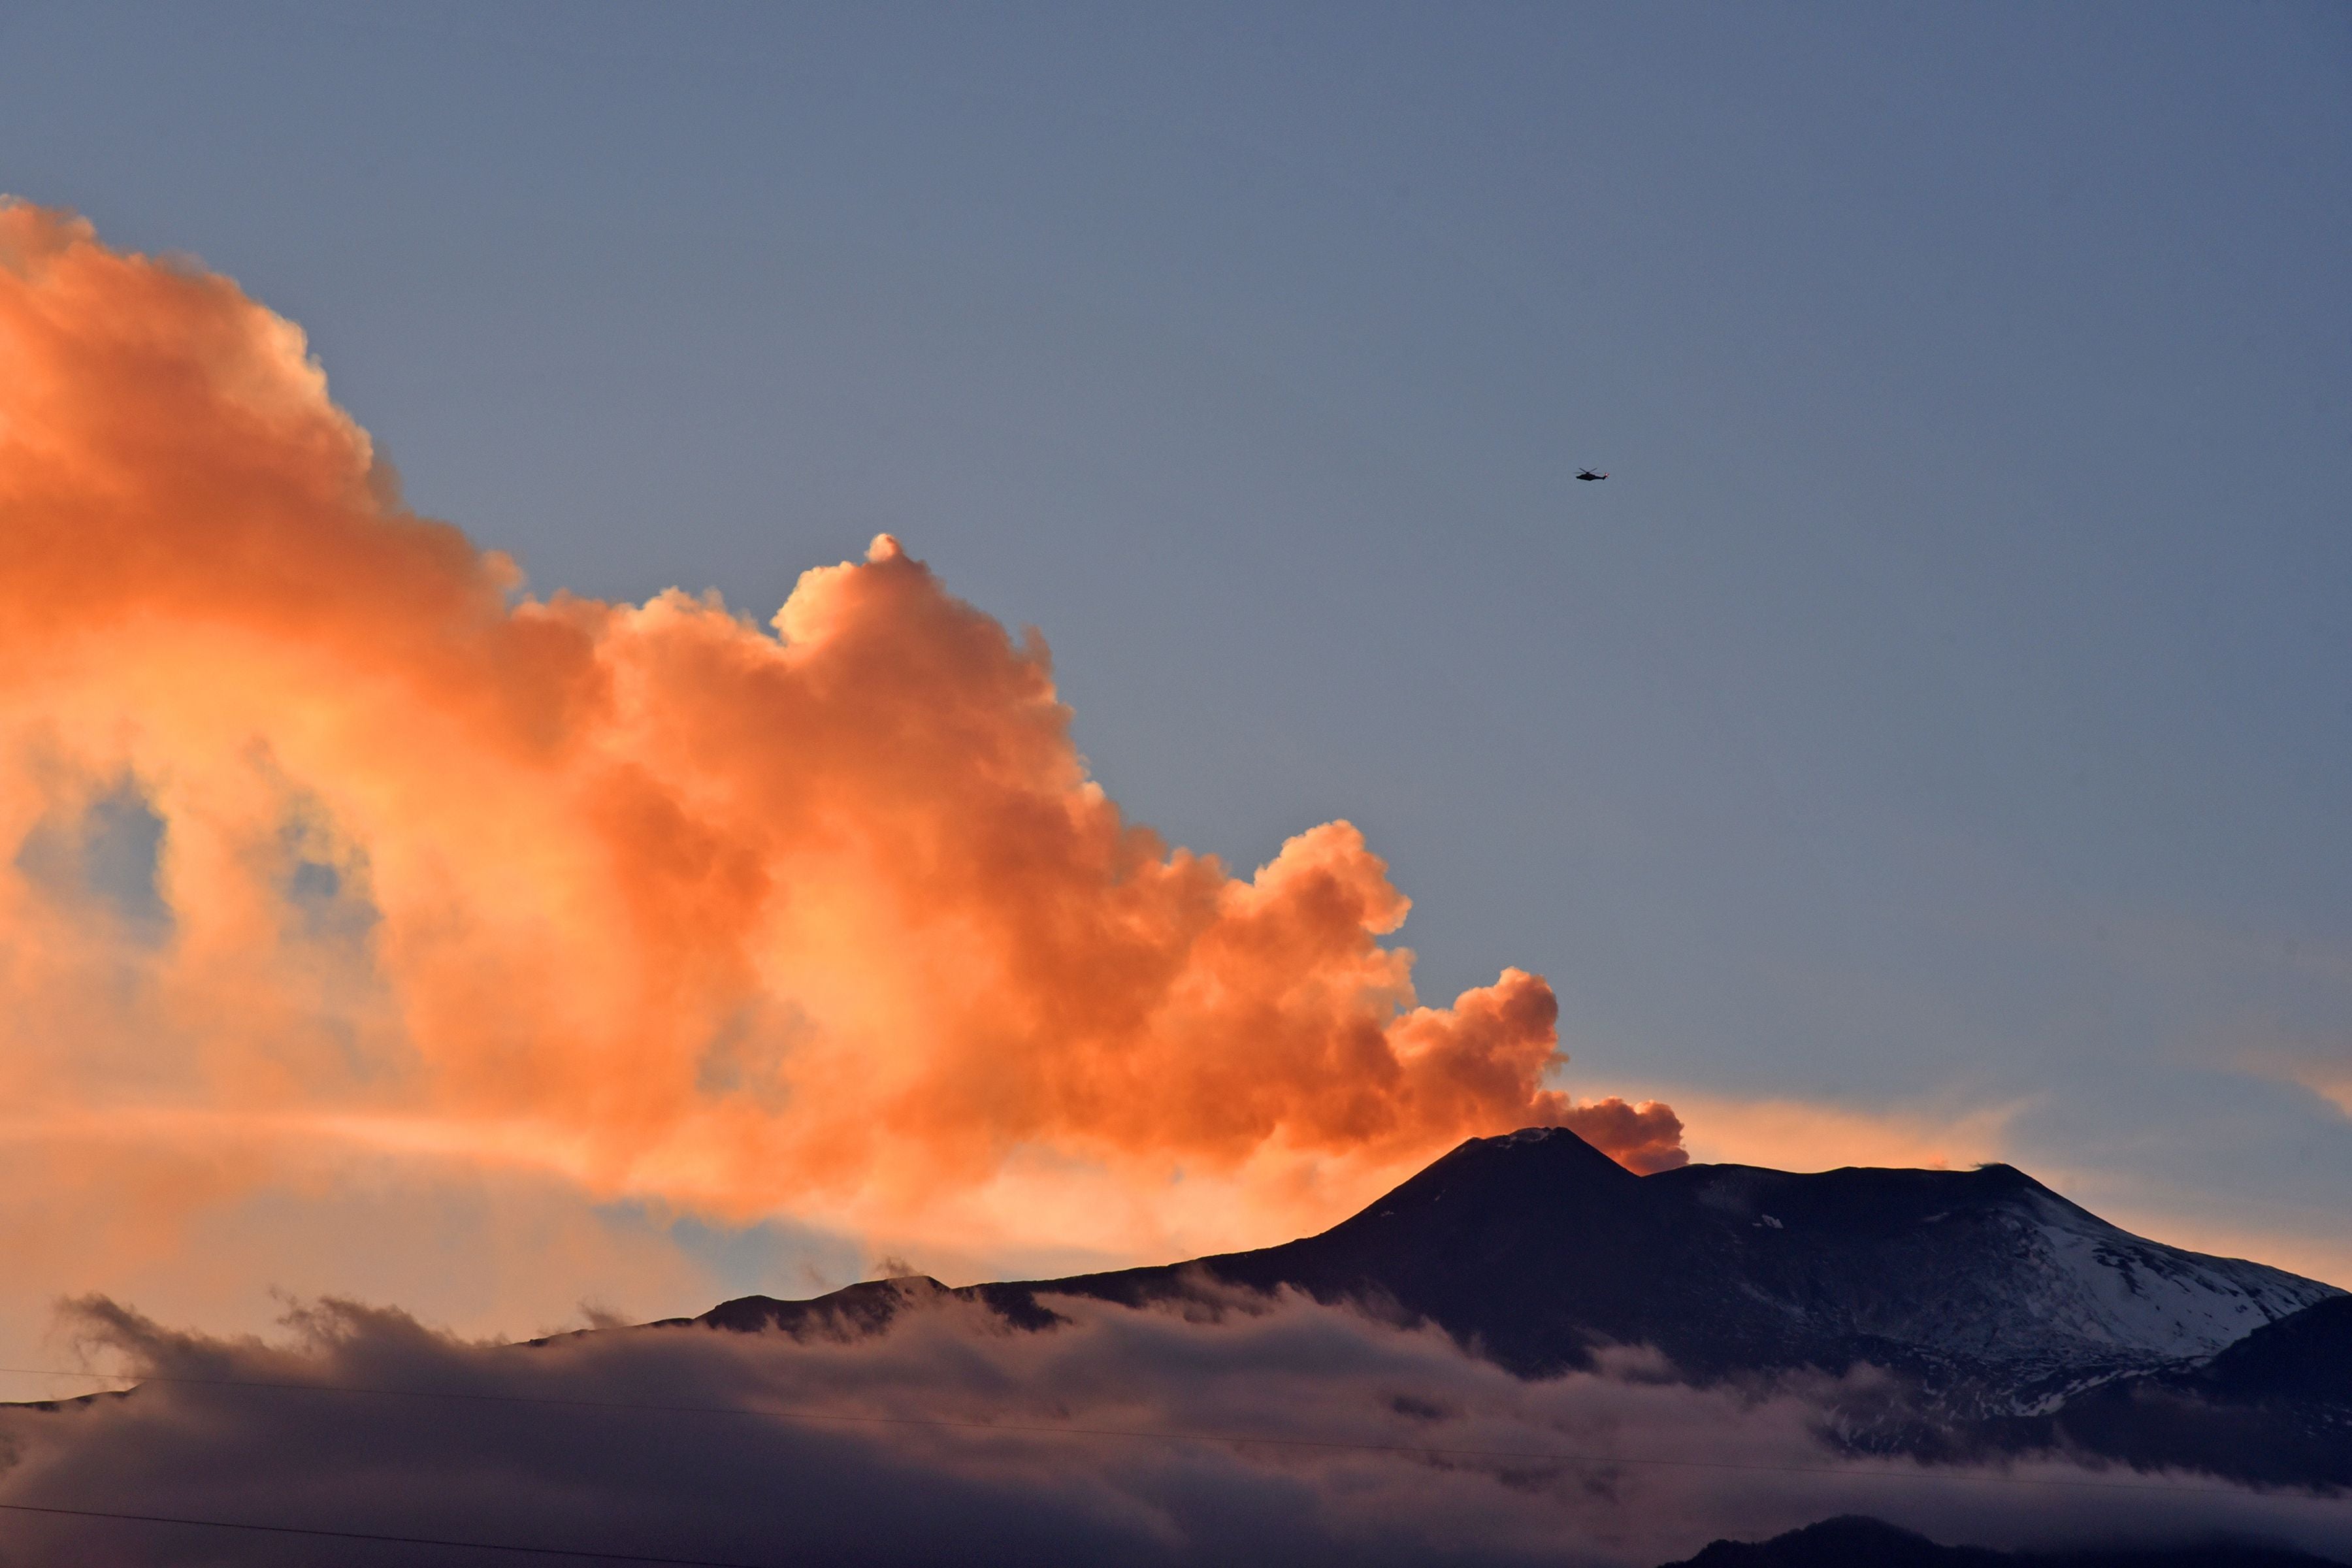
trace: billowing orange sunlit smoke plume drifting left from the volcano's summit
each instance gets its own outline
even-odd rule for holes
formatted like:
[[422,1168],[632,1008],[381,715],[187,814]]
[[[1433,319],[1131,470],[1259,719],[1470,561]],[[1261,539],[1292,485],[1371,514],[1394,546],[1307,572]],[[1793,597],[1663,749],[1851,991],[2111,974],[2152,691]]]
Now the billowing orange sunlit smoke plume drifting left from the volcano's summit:
[[322,1143],[851,1225],[1073,1168],[1329,1220],[1522,1124],[1682,1161],[1543,1086],[1538,976],[1418,1004],[1352,825],[1240,879],[1127,823],[1042,642],[889,536],[774,635],[520,597],[296,327],[26,205],[0,541],[0,1131],[139,1222]]

